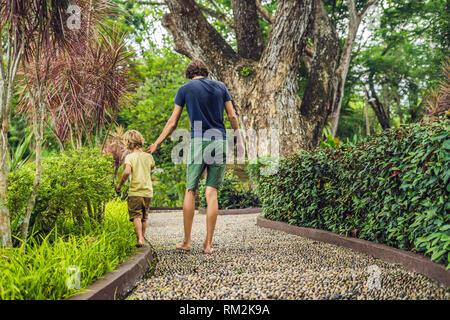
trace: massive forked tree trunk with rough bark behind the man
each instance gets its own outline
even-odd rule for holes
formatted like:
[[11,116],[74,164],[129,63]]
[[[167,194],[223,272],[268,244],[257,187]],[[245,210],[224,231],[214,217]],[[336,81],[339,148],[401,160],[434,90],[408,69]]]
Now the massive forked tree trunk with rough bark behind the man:
[[[234,7],[251,7],[248,10],[254,14],[256,8],[250,2],[235,1]],[[297,81],[313,23],[313,0],[279,1],[275,21],[259,59],[258,54],[243,57],[244,49],[240,53],[234,52],[206,21],[194,0],[166,0],[166,3],[170,13],[164,16],[163,25],[171,32],[176,50],[191,59],[204,61],[211,69],[212,77],[227,85],[242,129],[255,130],[264,138],[258,140],[260,155],[274,155],[279,147],[280,154],[285,156],[299,148],[317,145],[318,141],[312,142],[311,137],[312,133],[317,135],[323,129],[323,121],[317,122],[314,117],[314,112],[320,109],[307,105],[301,113]],[[245,14],[235,13],[236,29],[248,24],[244,19]],[[254,27],[242,27],[237,40],[242,42],[252,38],[247,33],[254,31]],[[244,52],[248,53],[260,50],[256,40],[238,44],[239,47],[244,47]],[[242,72],[243,67],[247,72]],[[320,95],[324,96],[323,93]],[[267,139],[271,132],[274,139]]]

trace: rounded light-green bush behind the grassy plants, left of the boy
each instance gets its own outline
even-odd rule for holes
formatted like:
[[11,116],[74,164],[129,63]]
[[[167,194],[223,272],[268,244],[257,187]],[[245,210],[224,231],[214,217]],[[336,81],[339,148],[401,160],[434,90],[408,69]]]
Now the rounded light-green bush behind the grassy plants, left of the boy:
[[[8,206],[13,233],[18,231],[33,186],[34,164],[9,174]],[[36,232],[49,232],[57,221],[83,216],[101,221],[104,203],[112,198],[112,158],[98,150],[74,150],[45,158],[42,181],[31,215]]]

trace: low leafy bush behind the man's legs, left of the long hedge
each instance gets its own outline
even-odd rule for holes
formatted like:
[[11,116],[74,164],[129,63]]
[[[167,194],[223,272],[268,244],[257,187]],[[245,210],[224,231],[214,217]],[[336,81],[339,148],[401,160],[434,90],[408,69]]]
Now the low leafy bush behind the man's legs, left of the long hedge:
[[[206,208],[205,198],[205,182],[206,179],[200,180],[198,187],[199,206]],[[259,199],[256,194],[245,186],[239,177],[233,174],[232,170],[225,172],[222,186],[217,192],[217,200],[219,209],[241,209],[249,207],[259,207]]]

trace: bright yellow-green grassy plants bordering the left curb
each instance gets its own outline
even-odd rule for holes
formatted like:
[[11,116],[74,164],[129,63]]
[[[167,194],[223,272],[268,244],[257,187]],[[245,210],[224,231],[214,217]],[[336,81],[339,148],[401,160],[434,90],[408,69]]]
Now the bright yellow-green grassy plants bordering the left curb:
[[[109,202],[104,223],[88,219],[84,229],[80,235],[63,236],[55,228],[18,248],[0,248],[0,300],[67,299],[136,250],[126,202]],[[81,290],[67,286],[70,266],[79,268]]]

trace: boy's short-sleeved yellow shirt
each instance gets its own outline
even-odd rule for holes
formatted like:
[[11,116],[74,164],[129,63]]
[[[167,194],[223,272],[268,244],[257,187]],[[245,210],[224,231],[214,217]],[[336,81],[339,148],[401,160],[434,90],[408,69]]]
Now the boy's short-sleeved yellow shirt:
[[132,152],[125,157],[125,164],[131,166],[128,196],[153,198],[150,175],[155,166],[153,156],[147,152]]

